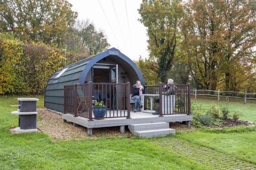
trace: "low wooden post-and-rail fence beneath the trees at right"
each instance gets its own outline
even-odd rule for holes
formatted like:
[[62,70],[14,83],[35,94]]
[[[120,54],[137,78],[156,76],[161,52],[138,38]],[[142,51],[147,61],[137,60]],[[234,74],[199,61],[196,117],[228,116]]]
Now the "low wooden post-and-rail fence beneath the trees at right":
[[216,96],[218,98],[218,101],[220,101],[220,98],[243,99],[244,103],[246,103],[246,100],[256,100],[256,93],[247,93],[246,91],[241,92],[241,91],[220,91],[220,90],[198,90],[198,89],[191,90],[191,91],[192,91],[191,95],[194,95],[195,100],[197,99],[197,96]]

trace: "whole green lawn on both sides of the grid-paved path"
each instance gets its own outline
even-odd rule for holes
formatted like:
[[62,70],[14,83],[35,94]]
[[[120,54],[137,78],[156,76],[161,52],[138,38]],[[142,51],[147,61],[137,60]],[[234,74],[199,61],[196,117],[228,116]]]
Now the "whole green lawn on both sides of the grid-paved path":
[[[17,116],[10,113],[16,108],[9,105],[17,104],[13,99],[16,97],[0,96],[0,169],[210,169],[160,147],[152,139],[111,138],[53,142],[44,133],[12,135],[9,128],[17,126]],[[33,97],[39,98],[37,106],[43,107],[44,97]],[[205,108],[208,107],[207,102],[202,103]],[[246,110],[252,108],[250,105],[244,106]],[[255,114],[251,118],[255,120]],[[178,132],[176,137],[237,158],[251,162],[256,160],[253,152],[256,150],[255,131],[183,131]]]

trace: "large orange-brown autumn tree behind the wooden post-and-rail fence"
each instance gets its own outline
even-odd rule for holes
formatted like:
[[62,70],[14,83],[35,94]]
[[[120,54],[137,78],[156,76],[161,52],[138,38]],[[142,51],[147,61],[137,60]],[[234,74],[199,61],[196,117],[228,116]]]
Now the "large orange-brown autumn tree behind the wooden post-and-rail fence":
[[[201,88],[238,90],[255,76],[255,8],[252,1],[194,0],[185,4],[182,49]],[[241,71],[243,70],[243,71]],[[244,79],[244,78],[245,79]]]

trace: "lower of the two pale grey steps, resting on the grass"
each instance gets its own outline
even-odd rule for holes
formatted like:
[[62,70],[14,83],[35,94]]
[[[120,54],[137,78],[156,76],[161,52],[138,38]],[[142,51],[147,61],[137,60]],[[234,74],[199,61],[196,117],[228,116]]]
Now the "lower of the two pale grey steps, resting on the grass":
[[175,134],[175,133],[176,133],[175,129],[167,128],[167,129],[135,131],[133,134],[138,137],[151,138],[151,137],[167,136],[168,134]]

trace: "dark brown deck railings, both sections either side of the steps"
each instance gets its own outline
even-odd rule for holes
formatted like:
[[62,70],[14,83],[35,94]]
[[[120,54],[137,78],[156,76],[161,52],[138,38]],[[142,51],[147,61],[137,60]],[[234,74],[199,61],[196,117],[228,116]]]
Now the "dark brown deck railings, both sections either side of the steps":
[[[173,89],[171,95],[165,95],[168,89]],[[64,113],[94,119],[93,104],[103,101],[106,107],[104,118],[130,116],[130,83],[86,83],[64,86]],[[160,116],[168,114],[190,114],[190,85],[146,86],[144,93],[159,94]],[[156,107],[155,102],[145,95],[144,110]]]

